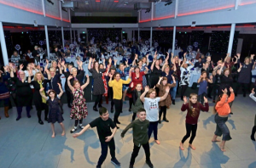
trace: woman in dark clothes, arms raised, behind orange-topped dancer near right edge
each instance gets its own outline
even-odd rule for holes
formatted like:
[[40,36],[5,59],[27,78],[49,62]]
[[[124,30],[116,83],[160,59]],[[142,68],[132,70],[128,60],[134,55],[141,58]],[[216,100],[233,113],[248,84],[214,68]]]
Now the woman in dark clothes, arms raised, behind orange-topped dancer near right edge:
[[237,70],[239,72],[239,75],[237,80],[238,86],[236,87],[236,96],[239,88],[241,87],[241,90],[243,92],[243,97],[246,97],[247,90],[250,88],[249,84],[251,82],[251,71],[254,64],[254,61],[253,61],[254,54],[251,54],[251,58],[246,57],[244,59],[244,63],[240,63],[240,53],[237,53],[236,55],[238,57],[237,63],[241,64],[239,70]]

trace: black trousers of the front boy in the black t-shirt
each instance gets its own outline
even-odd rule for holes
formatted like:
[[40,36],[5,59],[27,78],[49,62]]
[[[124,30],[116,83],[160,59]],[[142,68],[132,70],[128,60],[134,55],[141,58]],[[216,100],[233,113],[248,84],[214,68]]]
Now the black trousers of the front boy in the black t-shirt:
[[102,166],[102,163],[104,162],[104,160],[106,160],[107,158],[107,154],[108,154],[108,147],[110,150],[110,155],[112,157],[112,160],[115,159],[115,145],[114,145],[114,140],[113,138],[108,142],[101,142],[101,146],[102,146],[102,155],[99,158],[98,161],[98,165],[97,166]]

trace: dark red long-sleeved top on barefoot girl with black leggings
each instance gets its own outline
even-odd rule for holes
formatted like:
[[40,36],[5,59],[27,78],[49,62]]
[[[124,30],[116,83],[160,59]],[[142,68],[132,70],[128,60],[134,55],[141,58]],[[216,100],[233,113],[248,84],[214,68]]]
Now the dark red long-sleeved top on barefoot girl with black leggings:
[[189,103],[183,104],[181,110],[185,111],[187,110],[187,116],[186,116],[186,123],[188,124],[197,124],[198,117],[200,115],[200,111],[208,112],[209,110],[209,104],[205,103],[205,106],[203,106],[201,103],[197,102],[197,104],[191,104],[193,108],[195,108],[195,112],[192,115],[189,115]]

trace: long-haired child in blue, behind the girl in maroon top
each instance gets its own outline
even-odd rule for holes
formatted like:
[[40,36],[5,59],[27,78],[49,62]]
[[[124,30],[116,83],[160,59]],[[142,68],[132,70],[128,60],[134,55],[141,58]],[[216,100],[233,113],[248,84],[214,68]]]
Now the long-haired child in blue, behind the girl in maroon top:
[[197,83],[199,83],[198,99],[201,104],[204,104],[204,97],[207,97],[208,82],[212,83],[212,76],[210,76],[210,79],[208,79],[207,71],[202,71],[201,76],[197,81]]

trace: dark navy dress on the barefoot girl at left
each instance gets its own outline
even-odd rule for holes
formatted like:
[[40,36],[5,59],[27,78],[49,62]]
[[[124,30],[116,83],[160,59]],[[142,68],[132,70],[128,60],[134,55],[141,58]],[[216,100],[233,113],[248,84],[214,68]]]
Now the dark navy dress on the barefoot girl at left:
[[61,123],[64,119],[63,119],[63,116],[61,115],[59,98],[55,98],[54,100],[51,100],[51,98],[48,97],[47,103],[49,104],[48,123],[54,124],[56,121],[58,123]]

